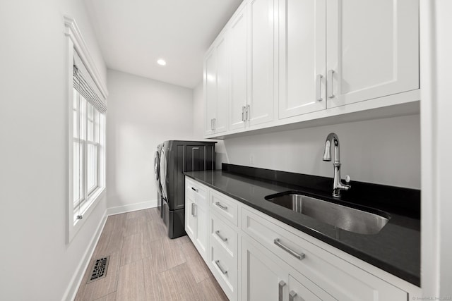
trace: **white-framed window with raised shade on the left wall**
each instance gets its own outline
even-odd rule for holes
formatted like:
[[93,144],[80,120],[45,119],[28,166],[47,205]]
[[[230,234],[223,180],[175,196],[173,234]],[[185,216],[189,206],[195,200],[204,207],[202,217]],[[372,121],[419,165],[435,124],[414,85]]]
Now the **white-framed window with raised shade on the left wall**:
[[105,196],[107,88],[81,37],[65,16],[67,41],[67,231],[69,243]]

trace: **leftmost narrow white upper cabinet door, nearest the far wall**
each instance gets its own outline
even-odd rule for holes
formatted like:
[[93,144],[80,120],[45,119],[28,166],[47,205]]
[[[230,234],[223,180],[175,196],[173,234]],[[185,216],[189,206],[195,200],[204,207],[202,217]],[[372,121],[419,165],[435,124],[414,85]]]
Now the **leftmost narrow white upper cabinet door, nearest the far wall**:
[[204,97],[206,104],[205,135],[213,134],[213,119],[217,110],[217,52],[213,48],[204,60]]

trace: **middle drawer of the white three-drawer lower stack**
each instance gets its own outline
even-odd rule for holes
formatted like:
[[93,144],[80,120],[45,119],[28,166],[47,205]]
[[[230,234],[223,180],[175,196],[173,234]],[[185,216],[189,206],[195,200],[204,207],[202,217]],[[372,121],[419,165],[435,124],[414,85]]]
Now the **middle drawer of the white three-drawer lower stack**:
[[210,214],[210,240],[216,240],[231,257],[237,257],[237,231]]

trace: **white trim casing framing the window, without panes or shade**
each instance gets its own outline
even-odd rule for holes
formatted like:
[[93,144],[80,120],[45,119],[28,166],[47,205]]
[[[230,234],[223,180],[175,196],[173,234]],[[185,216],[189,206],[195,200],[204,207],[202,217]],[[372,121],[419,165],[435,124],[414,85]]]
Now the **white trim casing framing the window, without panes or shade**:
[[[76,233],[83,226],[85,221],[90,216],[91,212],[102,197],[105,197],[105,130],[100,130],[100,145],[99,145],[99,174],[98,185],[99,188],[92,192],[89,196],[88,202],[85,202],[85,207],[82,205],[81,212],[83,212],[83,219],[80,219],[74,223],[73,221],[73,107],[72,107],[72,94],[73,94],[73,51],[77,51],[78,56],[80,56],[83,64],[90,73],[91,78],[93,78],[97,88],[100,90],[102,97],[107,99],[108,91],[105,82],[103,82],[100,77],[100,73],[97,70],[93,59],[91,58],[88,47],[86,46],[85,40],[83,39],[80,30],[76,24],[76,21],[69,17],[64,16],[64,25],[66,27],[66,112],[67,112],[67,148],[66,148],[66,243],[71,242],[71,240],[76,236]],[[100,114],[100,118],[104,118],[104,126],[106,126],[106,116],[105,113]],[[86,208],[88,207],[88,208]]]

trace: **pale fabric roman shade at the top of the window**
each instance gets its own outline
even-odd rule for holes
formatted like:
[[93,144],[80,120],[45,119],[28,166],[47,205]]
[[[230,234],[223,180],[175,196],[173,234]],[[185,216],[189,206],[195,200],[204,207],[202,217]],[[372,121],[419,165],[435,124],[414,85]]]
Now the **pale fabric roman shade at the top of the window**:
[[107,102],[102,97],[100,90],[97,88],[90,73],[85,68],[77,51],[73,53],[73,87],[85,97],[85,99],[92,104],[97,111],[105,113],[107,111]]

